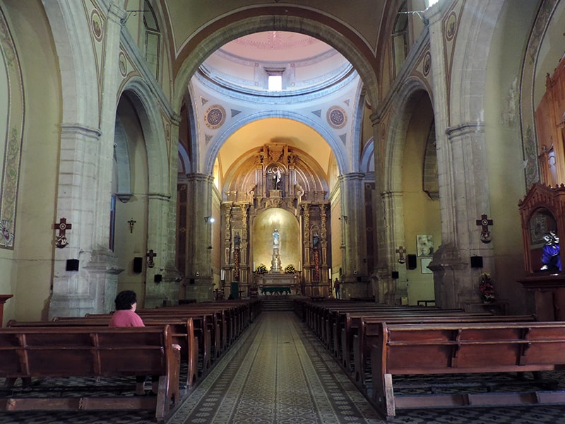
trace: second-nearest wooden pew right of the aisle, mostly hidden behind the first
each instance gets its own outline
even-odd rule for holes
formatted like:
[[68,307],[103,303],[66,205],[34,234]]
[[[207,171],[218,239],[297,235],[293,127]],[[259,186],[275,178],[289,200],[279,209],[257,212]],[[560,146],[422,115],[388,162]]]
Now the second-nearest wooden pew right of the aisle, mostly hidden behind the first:
[[469,322],[535,322],[535,315],[475,315],[468,313],[445,314],[443,316],[432,314],[422,317],[363,317],[361,331],[353,337],[354,373],[353,381],[364,391],[365,371],[369,363],[371,346],[379,342],[381,323],[387,324],[432,324],[432,323],[469,323]]

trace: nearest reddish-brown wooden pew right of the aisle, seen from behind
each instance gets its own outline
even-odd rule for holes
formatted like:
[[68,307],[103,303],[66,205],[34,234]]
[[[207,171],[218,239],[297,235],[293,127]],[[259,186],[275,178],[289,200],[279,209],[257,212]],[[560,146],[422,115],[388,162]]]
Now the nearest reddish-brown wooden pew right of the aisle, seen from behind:
[[371,400],[386,417],[397,408],[564,404],[563,390],[403,394],[394,375],[538,372],[565,369],[565,323],[382,322],[371,346]]

